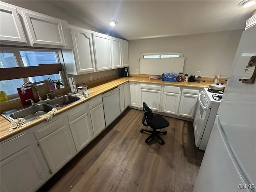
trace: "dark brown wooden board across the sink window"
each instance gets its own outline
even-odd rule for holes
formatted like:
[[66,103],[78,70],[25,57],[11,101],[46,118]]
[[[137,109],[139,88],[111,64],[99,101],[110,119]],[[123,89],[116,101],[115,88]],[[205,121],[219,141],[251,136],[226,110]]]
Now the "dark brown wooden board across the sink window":
[[58,64],[40,64],[39,66],[30,67],[12,67],[0,68],[0,79],[20,79],[42,75],[58,74],[62,70],[61,63]]

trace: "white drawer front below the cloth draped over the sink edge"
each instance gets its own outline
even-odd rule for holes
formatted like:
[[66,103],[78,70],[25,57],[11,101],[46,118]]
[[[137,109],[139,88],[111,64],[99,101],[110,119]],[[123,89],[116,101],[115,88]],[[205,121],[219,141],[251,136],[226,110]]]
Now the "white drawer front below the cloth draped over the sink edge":
[[57,130],[58,128],[64,126],[64,119],[63,118],[59,118],[55,121],[50,122],[48,125],[43,126],[42,128],[39,128],[38,130],[34,131],[34,134],[36,136],[36,139],[41,139],[44,136],[54,132],[55,130]]

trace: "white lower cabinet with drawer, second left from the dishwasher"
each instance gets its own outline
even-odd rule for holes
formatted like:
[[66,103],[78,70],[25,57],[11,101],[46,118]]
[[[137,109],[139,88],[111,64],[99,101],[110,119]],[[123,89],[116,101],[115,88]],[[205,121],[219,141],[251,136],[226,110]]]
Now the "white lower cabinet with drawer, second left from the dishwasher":
[[87,102],[69,110],[68,122],[78,152],[89,144],[94,136]]

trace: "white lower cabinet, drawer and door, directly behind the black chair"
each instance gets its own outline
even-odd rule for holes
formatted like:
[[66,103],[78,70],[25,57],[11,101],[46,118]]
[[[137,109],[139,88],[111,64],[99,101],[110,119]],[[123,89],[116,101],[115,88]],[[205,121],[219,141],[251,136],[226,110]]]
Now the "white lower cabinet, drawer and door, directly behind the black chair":
[[145,102],[150,109],[160,111],[161,86],[151,84],[140,84],[139,107]]

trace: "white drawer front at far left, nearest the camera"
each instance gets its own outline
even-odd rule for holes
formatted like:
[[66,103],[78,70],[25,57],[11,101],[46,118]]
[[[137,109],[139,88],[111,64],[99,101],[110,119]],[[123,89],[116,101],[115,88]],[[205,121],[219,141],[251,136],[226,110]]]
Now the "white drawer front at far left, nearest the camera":
[[1,144],[1,161],[29,145],[30,143],[25,133]]

